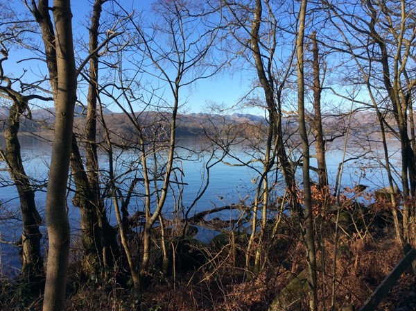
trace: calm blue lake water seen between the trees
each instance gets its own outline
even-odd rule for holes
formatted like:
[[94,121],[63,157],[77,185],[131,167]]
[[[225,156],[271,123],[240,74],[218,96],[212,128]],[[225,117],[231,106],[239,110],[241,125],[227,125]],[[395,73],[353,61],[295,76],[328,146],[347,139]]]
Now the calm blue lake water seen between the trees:
[[[3,147],[4,140],[2,136],[0,137],[0,147]],[[40,185],[36,188],[35,200],[37,207],[43,216],[43,209],[46,200],[45,185],[47,182],[47,172],[49,170],[48,165],[50,161],[51,144],[46,141],[33,139],[33,137],[21,137],[20,141],[21,154],[24,158],[26,174],[33,179],[33,183]],[[178,145],[180,148],[177,149],[177,152],[182,159],[180,161],[178,160],[178,162],[180,162],[180,167],[183,171],[181,181],[184,183],[182,205],[184,208],[187,208],[196,198],[198,190],[200,190],[200,187],[205,180],[204,176],[206,176],[206,172],[203,167],[209,159],[209,153],[206,151],[205,155],[197,158],[196,155],[190,151],[201,149],[201,146],[202,149],[204,149],[204,146],[201,144],[198,137],[181,138]],[[252,158],[245,147],[246,146],[244,145],[234,146],[232,149],[235,158],[238,158],[241,162],[248,162]],[[329,183],[330,185],[334,185],[338,165],[342,159],[343,152],[338,149],[329,150],[330,151],[327,152],[327,169]],[[394,150],[395,147],[392,147],[392,154],[394,153]],[[361,183],[363,185],[367,185],[367,187],[371,190],[387,185],[387,176],[384,174],[379,163],[379,159],[382,158],[379,152],[380,151],[375,150],[373,153],[368,154],[368,160],[361,158],[359,160],[347,162],[343,173],[343,187],[354,187],[356,183]],[[311,153],[313,153],[313,150]],[[128,167],[128,162],[137,162],[138,155],[133,151],[126,151],[122,154],[116,152],[116,154],[119,155],[119,162],[117,166],[119,172]],[[216,154],[219,156],[220,152],[216,151]],[[293,154],[296,155],[299,153]],[[348,148],[346,159],[354,158],[356,155],[360,154],[363,154],[363,148],[352,144]],[[395,162],[393,158],[394,156],[396,155],[392,155],[392,162]],[[240,203],[241,201],[250,203],[250,199],[254,194],[255,185],[253,181],[258,176],[255,169],[259,168],[259,164],[252,165],[252,168],[245,166],[241,167],[237,166],[240,162],[235,158],[226,157],[224,162],[227,162],[228,164],[220,162],[211,168],[209,187],[202,198],[198,201],[195,208],[191,210],[189,216],[196,212],[222,205]],[[108,162],[105,154],[100,155],[100,162],[101,167],[105,169]],[[314,158],[311,159],[311,165],[315,165]],[[279,176],[277,177],[279,178]],[[12,186],[10,176],[8,175],[3,162],[0,162],[0,184],[0,239],[6,242],[17,241],[21,235],[19,198],[15,187]],[[141,192],[140,185],[137,185],[136,192]],[[67,203],[71,223],[71,232],[73,239],[76,239],[78,236],[80,214],[78,209],[71,205],[71,194],[69,194]],[[110,221],[112,224],[116,224],[114,212],[112,212],[111,200],[108,200],[106,204]],[[130,204],[131,214],[137,210],[143,210],[143,204],[139,197],[132,200],[132,203]],[[172,217],[174,211],[175,200],[173,199],[173,196],[169,196],[163,213],[165,217]],[[214,215],[212,217],[218,217],[218,215]],[[232,212],[227,211],[223,212],[221,217],[229,219],[230,217],[234,217],[234,215],[232,215]],[[46,236],[46,226],[42,226],[41,230],[42,233],[44,233],[44,236]],[[205,232],[201,238],[209,239],[211,237],[210,234],[213,235],[214,233]],[[46,247],[46,239],[44,241],[44,247]],[[3,267],[3,269],[6,269],[5,267],[11,267],[12,269],[15,267],[16,271],[18,271],[19,257],[18,249],[15,246],[0,243],[0,254],[0,269],[1,267]]]

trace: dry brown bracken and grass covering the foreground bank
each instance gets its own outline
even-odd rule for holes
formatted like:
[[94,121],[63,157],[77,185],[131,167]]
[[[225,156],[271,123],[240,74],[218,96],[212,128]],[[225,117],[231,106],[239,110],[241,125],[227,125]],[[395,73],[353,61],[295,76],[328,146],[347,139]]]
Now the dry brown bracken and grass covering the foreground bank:
[[[319,310],[330,310],[335,275],[335,309],[354,305],[357,309],[403,258],[401,246],[391,238],[389,228],[365,235],[340,233],[335,248],[333,225],[328,221],[317,236]],[[304,246],[297,230],[284,228],[275,237],[266,235],[261,273],[246,273],[245,245],[225,242],[205,246],[207,260],[202,267],[173,276],[160,273],[153,262],[153,278],[144,293],[133,296],[128,285],[116,278],[105,285],[79,285],[76,262],[70,269],[66,310],[268,310],[275,296],[305,267]],[[333,271],[334,254],[336,269]],[[266,259],[267,255],[267,259]],[[251,276],[249,278],[249,276]],[[22,291],[21,285],[0,280],[1,310],[41,310],[42,296]],[[406,272],[392,289],[379,310],[416,310],[416,276]],[[303,299],[296,310],[306,310]],[[22,303],[24,302],[24,303]],[[304,303],[304,304],[302,304]]]

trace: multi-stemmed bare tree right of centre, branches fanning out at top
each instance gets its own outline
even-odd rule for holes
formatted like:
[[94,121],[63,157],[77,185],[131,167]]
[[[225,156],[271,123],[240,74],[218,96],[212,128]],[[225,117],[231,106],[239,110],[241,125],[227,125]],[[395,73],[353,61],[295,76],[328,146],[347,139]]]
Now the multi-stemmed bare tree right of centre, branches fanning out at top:
[[[270,172],[277,168],[281,171],[286,187],[288,189],[289,205],[293,211],[299,212],[299,206],[296,199],[297,186],[295,180],[295,169],[291,165],[286,152],[287,144],[284,139],[282,126],[282,115],[284,110],[284,91],[288,87],[288,78],[293,72],[293,58],[295,49],[289,43],[289,53],[286,58],[279,58],[279,40],[283,39],[284,28],[281,25],[279,14],[285,11],[285,8],[273,6],[270,1],[241,1],[239,3],[223,2],[226,9],[225,18],[231,28],[232,37],[241,44],[241,55],[244,56],[254,69],[259,84],[256,85],[263,93],[265,102],[265,115],[267,119],[267,140],[263,146],[265,150],[263,159],[263,171],[257,180],[257,192],[254,201],[252,215],[252,234],[246,252],[246,266],[250,269],[250,258],[252,257],[252,245],[256,239],[257,216],[259,208],[261,211],[260,233],[258,235],[257,250],[254,256],[254,269],[259,271],[261,262],[262,239],[266,229],[268,207],[270,204],[270,190],[275,188],[275,180],[269,180]],[[289,8],[290,7],[290,8]],[[288,10],[292,10],[288,4]],[[290,19],[288,29],[292,29]],[[248,52],[248,53],[247,53]],[[258,100],[258,99],[257,99]]]

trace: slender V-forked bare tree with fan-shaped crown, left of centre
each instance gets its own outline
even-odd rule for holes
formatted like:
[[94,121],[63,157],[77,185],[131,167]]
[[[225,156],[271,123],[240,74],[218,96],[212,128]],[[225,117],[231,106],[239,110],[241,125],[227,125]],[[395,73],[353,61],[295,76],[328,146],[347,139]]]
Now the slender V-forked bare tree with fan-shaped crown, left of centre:
[[[128,15],[127,11],[124,12]],[[118,103],[128,117],[136,137],[135,149],[139,152],[139,181],[143,185],[146,221],[140,280],[134,280],[138,291],[148,275],[150,233],[155,222],[162,217],[166,199],[172,190],[171,183],[175,180],[174,171],[180,172],[177,165],[180,158],[175,150],[178,113],[184,105],[181,90],[200,79],[213,76],[221,68],[214,58],[210,58],[218,26],[209,19],[214,17],[215,10],[207,3],[161,0],[153,4],[152,13],[154,19],[151,21],[129,17],[131,28],[126,29],[126,33],[131,34],[132,50],[127,48],[121,53],[123,62],[120,63],[129,60],[130,64],[119,68],[119,81],[116,81],[119,84],[117,88],[122,92],[114,93],[110,88],[115,85],[110,84],[103,90],[105,96]],[[130,77],[127,72],[131,72],[132,66],[136,67],[136,72]],[[123,71],[123,67],[128,67],[128,71]],[[146,78],[149,79],[148,83],[144,82]],[[157,94],[161,88],[154,86],[157,84],[166,87],[168,96]],[[144,85],[148,85],[150,90],[142,87]],[[146,100],[146,96],[149,100]],[[135,106],[137,103],[144,107],[139,112],[135,110],[140,107]],[[113,190],[116,188],[113,187]],[[121,198],[116,196],[115,199],[117,201]],[[119,226],[123,226],[122,217],[117,217]],[[128,228],[123,228],[123,235],[127,230]],[[122,237],[122,244],[125,253],[130,253],[125,236]],[[130,259],[128,262],[132,275],[135,276],[135,264]]]

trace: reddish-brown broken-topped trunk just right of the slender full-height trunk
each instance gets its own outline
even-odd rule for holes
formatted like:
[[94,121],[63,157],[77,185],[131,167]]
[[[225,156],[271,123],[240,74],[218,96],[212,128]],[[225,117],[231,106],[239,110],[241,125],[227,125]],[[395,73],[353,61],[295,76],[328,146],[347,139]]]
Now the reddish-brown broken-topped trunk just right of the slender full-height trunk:
[[318,163],[318,185],[322,189],[328,185],[327,164],[325,161],[325,141],[322,129],[321,115],[321,85],[320,85],[320,69],[319,69],[319,49],[316,42],[316,33],[312,36],[313,51],[313,110],[315,119],[311,123],[313,135],[315,136],[316,162]]

